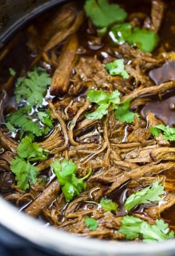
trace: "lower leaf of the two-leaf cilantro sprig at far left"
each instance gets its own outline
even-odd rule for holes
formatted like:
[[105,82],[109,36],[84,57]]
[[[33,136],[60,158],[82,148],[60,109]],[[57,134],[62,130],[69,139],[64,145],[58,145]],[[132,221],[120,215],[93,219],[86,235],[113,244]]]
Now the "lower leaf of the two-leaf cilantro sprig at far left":
[[15,179],[20,189],[29,189],[29,183],[34,185],[37,182],[38,167],[33,166],[29,161],[17,156],[10,163],[11,171],[15,174]]

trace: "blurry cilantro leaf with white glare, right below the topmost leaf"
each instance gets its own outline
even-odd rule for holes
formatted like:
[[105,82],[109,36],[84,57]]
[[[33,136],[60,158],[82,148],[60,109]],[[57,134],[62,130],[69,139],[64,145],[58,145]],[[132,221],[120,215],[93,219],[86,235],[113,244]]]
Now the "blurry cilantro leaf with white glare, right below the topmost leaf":
[[109,32],[110,37],[117,44],[135,45],[144,52],[152,52],[158,43],[157,33],[141,28],[132,28],[130,23],[114,25]]

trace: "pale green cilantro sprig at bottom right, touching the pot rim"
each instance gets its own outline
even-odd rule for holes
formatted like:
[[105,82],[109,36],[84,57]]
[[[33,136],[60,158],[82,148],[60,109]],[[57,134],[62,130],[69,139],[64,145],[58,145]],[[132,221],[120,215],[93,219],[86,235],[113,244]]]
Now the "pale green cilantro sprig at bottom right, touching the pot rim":
[[170,231],[168,224],[162,219],[156,219],[156,224],[151,225],[139,218],[125,216],[121,222],[119,232],[128,240],[143,238],[144,242],[152,243],[174,238],[174,231]]

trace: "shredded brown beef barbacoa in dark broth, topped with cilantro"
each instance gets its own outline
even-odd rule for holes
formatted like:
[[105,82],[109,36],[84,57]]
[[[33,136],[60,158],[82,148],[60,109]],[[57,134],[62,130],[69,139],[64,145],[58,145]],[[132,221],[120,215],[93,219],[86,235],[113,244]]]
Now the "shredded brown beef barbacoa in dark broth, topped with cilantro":
[[82,236],[174,237],[174,11],[71,1],[1,50],[4,199]]

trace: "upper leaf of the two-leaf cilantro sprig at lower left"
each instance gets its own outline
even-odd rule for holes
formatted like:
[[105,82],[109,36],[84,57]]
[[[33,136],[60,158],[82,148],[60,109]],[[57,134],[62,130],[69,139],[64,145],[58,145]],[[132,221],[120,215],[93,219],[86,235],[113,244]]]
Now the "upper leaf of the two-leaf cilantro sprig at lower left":
[[32,143],[30,137],[26,136],[21,140],[18,145],[18,155],[21,158],[27,158],[29,161],[45,160],[49,151],[42,149],[38,146],[38,143]]

